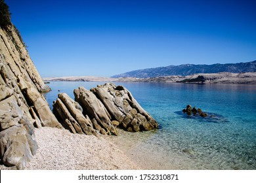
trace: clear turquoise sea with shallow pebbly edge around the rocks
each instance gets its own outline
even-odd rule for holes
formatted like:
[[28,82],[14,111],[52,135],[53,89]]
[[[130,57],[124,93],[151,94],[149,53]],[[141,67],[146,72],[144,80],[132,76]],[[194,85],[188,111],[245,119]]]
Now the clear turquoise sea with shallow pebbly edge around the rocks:
[[[44,93],[51,108],[58,93],[104,82],[50,82]],[[125,86],[160,125],[108,137],[143,169],[255,170],[256,85],[114,82]],[[188,116],[187,105],[207,117]]]

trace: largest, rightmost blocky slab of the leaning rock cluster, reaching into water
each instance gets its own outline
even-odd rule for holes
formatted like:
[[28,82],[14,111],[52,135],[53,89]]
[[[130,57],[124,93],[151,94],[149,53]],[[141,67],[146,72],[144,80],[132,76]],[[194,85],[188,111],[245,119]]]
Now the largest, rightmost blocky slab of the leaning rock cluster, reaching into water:
[[117,120],[128,131],[152,130],[158,127],[156,120],[140,107],[125,87],[104,84],[92,88],[91,91],[102,101],[112,120]]

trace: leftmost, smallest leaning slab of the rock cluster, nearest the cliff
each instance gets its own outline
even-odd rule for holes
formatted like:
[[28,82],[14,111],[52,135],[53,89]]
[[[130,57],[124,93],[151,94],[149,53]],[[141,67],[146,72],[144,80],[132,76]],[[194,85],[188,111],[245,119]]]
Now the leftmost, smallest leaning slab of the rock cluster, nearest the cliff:
[[71,99],[66,93],[59,93],[54,102],[54,113],[60,116],[62,124],[72,133],[95,134],[91,120],[83,116],[81,106]]

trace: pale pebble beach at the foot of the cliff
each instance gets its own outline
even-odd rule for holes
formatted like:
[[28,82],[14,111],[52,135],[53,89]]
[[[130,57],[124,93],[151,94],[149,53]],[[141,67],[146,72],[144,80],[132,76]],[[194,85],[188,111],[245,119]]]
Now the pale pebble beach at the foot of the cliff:
[[[115,170],[140,169],[104,137],[79,135],[66,129],[35,129],[39,148],[28,162],[28,170]],[[0,169],[10,169],[0,166]]]

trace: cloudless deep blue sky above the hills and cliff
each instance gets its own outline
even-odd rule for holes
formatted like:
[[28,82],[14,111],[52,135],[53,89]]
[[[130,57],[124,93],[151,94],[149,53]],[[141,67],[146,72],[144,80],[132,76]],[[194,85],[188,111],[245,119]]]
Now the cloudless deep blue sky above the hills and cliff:
[[256,1],[5,0],[41,76],[256,59]]

